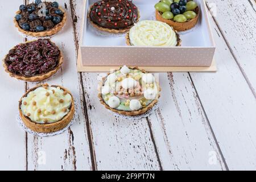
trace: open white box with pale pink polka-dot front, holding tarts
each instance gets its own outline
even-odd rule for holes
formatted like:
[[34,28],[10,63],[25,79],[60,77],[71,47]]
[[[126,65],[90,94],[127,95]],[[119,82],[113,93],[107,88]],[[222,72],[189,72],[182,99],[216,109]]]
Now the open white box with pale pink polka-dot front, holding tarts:
[[[216,71],[213,61],[215,44],[204,0],[195,0],[200,18],[195,28],[180,32],[181,47],[126,46],[124,36],[102,36],[90,26],[88,8],[97,0],[84,1],[84,19],[78,59],[78,71],[109,71],[121,65],[146,68],[147,71]],[[133,0],[140,20],[154,19],[158,0]]]

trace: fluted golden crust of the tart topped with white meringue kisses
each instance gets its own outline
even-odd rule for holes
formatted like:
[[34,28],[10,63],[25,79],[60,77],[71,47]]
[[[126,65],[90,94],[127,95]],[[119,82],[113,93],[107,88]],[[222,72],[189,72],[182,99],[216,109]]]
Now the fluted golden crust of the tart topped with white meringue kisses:
[[[130,69],[138,69],[139,71],[141,71],[142,73],[146,73],[146,71],[144,71],[144,69],[139,69],[138,67],[129,67]],[[101,88],[105,83],[106,78],[110,75],[110,73],[108,73],[108,75],[104,78],[102,78],[102,81],[100,82],[99,88],[98,88],[98,98],[100,98],[100,102],[102,105],[105,106],[106,109],[109,109],[115,113],[118,114],[122,114],[122,115],[127,115],[127,116],[133,116],[133,115],[140,115],[140,114],[144,114],[146,113],[146,111],[152,109],[152,107],[154,107],[154,105],[158,102],[158,98],[160,97],[160,91],[161,88],[158,84],[158,89],[159,89],[159,94],[158,94],[158,98],[155,99],[154,101],[152,101],[149,105],[147,105],[146,107],[142,107],[139,110],[134,110],[134,111],[124,111],[124,110],[118,110],[118,109],[114,109],[112,107],[110,107],[108,104],[106,104],[106,102],[104,101],[104,99],[102,98],[102,94],[101,94]]]

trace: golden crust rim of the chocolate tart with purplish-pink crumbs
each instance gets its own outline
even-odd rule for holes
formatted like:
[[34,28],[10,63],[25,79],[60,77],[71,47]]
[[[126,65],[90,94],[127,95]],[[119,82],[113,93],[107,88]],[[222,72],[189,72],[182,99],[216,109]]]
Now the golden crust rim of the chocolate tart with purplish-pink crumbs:
[[[48,40],[49,39],[38,39],[38,40],[33,40],[33,41],[27,41],[26,43],[32,43],[32,42],[38,42],[39,40]],[[55,44],[51,41],[49,41],[50,43],[52,43],[54,46]],[[23,44],[26,44],[26,43],[20,43],[18,44],[17,46],[22,46]],[[16,46],[15,46],[16,47]],[[15,47],[13,47],[12,49],[15,49]],[[57,47],[57,46],[56,46]],[[12,50],[11,49],[11,50]],[[58,48],[59,49],[59,48]],[[23,76],[23,75],[20,75],[20,74],[16,74],[16,73],[13,73],[9,70],[8,68],[8,65],[6,63],[6,57],[8,56],[9,54],[7,54],[5,56],[5,58],[3,59],[3,67],[5,68],[5,71],[7,73],[9,73],[9,75],[11,77],[14,77],[18,80],[23,80],[23,81],[30,81],[30,82],[35,82],[35,81],[42,81],[42,80],[45,80],[49,77],[51,77],[52,75],[54,75],[61,67],[61,65],[63,64],[63,53],[60,51],[59,49],[59,61],[57,62],[55,68],[51,69],[50,71],[46,72],[46,73],[41,73],[41,74],[37,74],[35,76],[30,76],[30,77],[27,77],[27,76]]]

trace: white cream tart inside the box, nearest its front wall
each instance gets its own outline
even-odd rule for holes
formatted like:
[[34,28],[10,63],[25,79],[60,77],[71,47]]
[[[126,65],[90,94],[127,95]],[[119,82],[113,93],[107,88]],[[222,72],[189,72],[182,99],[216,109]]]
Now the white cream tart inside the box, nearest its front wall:
[[180,46],[179,35],[167,23],[143,20],[131,27],[127,34],[130,46]]

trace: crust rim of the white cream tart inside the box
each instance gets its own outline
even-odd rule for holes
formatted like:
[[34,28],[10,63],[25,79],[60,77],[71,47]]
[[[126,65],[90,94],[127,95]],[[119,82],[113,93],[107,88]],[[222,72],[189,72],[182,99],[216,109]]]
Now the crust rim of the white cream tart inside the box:
[[[158,22],[158,21],[155,21],[155,20],[143,20],[143,21],[141,21],[141,22],[139,22],[138,24],[143,24],[144,22]],[[158,22],[159,23],[159,22]],[[135,25],[135,26],[138,26],[138,24],[137,25]],[[166,26],[168,26],[166,23],[162,23],[161,22],[161,25],[162,24],[165,24]],[[169,27],[169,26],[168,26]],[[176,44],[176,46],[181,46],[181,39],[180,39],[180,35],[178,34],[178,32],[176,31],[176,30],[174,30],[172,27],[170,27],[172,30],[172,32],[174,32],[175,34],[176,34],[176,42],[177,42],[177,44]],[[137,45],[133,45],[132,43],[131,43],[131,40],[130,40],[130,32],[131,32],[131,30],[132,29],[130,29],[130,31],[129,32],[127,32],[127,34],[126,34],[126,36],[125,36],[125,39],[126,39],[126,44],[127,44],[127,46],[137,46]],[[159,30],[159,28],[157,28],[156,30]],[[152,29],[151,29],[151,31],[152,31]],[[150,32],[150,31],[148,31],[148,32]],[[141,34],[146,34],[146,32],[144,33],[144,32],[141,32]],[[166,34],[166,32],[163,32],[162,34]],[[141,38],[141,37],[140,37]],[[144,45],[144,46],[147,46],[147,45]],[[164,46],[166,46],[166,45],[164,45]]]

